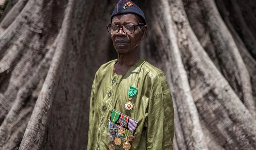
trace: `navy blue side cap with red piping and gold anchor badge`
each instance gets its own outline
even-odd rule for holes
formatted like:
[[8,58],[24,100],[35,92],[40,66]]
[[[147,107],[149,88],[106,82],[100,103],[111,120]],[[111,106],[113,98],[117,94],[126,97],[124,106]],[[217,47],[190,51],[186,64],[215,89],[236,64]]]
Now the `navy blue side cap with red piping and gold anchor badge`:
[[146,25],[146,20],[143,11],[132,1],[128,0],[117,0],[117,5],[111,15],[111,22],[114,16],[124,14],[124,13],[134,13],[138,15],[144,25]]

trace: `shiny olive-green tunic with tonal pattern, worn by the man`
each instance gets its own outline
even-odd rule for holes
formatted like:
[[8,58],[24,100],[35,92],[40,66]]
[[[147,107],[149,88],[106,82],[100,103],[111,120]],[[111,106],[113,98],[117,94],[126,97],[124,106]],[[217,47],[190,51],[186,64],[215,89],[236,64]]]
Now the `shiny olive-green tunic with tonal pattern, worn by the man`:
[[[92,85],[88,150],[107,150],[108,125],[112,109],[139,123],[130,142],[130,150],[173,149],[174,111],[170,90],[164,73],[143,58],[124,75],[116,75],[113,65],[103,64],[95,74]],[[130,86],[138,88],[131,102],[132,110],[125,110]],[[115,144],[114,144],[115,145]],[[123,149],[122,147],[116,149]]]

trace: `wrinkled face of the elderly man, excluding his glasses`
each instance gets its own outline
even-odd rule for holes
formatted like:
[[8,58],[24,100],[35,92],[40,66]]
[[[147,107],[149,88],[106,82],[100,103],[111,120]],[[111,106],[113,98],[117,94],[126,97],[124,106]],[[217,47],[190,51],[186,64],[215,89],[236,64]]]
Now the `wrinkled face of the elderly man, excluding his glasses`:
[[[127,24],[138,24],[138,17],[135,14],[127,13],[122,15],[114,16],[112,19],[112,25],[127,25]],[[129,53],[139,45],[141,41],[142,31],[140,27],[136,26],[135,31],[132,34],[126,34],[122,29],[114,35],[111,35],[113,45],[118,54]]]

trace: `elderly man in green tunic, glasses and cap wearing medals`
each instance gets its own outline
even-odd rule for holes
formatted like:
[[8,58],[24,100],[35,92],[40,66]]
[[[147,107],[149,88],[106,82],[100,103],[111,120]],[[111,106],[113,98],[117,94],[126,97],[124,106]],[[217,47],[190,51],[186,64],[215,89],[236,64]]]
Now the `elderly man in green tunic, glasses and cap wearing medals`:
[[107,26],[118,59],[92,85],[88,150],[173,149],[174,112],[164,73],[139,55],[147,33],[142,10],[119,0]]

